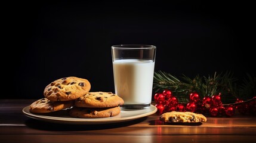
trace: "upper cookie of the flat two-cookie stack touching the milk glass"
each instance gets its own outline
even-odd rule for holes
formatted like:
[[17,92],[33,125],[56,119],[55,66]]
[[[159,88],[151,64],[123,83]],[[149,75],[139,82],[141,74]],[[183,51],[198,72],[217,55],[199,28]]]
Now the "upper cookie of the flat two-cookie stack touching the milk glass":
[[76,107],[107,108],[123,105],[124,100],[112,92],[88,92],[75,100]]

